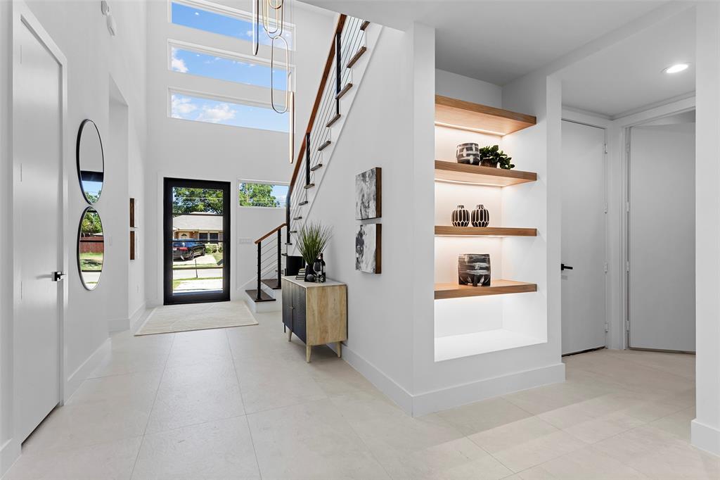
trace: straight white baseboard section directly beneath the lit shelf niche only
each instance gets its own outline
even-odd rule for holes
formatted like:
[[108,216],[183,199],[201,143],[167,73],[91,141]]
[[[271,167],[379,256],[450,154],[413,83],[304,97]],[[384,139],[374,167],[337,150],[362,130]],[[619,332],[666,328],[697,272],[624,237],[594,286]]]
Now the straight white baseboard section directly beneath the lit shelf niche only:
[[565,364],[561,362],[546,367],[534,368],[533,370],[463,383],[462,385],[415,395],[413,397],[413,416],[418,417],[456,406],[471,404],[474,401],[564,381]]

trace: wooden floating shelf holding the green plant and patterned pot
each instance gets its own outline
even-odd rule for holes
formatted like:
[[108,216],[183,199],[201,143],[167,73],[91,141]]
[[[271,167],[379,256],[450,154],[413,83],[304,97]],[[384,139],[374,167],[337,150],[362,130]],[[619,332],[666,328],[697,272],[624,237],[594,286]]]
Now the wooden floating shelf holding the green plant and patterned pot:
[[458,164],[454,161],[436,160],[435,179],[444,182],[508,187],[509,185],[535,182],[538,179],[538,174],[521,170],[492,168],[492,166]]

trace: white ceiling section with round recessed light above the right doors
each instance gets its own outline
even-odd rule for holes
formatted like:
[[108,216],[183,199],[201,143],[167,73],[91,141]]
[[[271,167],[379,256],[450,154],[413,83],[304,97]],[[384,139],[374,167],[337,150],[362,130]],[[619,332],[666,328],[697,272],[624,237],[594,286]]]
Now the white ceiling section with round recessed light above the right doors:
[[[695,9],[666,19],[565,68],[562,103],[623,116],[695,91]],[[674,63],[690,63],[665,74]]]

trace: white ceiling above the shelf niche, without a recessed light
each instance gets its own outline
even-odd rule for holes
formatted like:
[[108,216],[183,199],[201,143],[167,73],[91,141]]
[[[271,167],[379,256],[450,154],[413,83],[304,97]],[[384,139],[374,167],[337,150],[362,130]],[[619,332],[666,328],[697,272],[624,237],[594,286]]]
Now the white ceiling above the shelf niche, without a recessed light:
[[507,84],[665,1],[303,0],[371,22],[435,27],[442,70]]

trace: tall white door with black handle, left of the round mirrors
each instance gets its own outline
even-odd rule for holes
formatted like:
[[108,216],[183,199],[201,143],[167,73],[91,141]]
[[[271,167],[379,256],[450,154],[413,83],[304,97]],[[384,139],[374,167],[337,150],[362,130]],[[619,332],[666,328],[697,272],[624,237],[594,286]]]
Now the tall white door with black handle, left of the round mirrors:
[[[17,25],[16,25],[17,26]],[[62,66],[27,25],[14,32],[13,140],[16,435],[22,441],[60,402]]]

